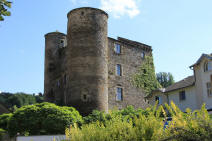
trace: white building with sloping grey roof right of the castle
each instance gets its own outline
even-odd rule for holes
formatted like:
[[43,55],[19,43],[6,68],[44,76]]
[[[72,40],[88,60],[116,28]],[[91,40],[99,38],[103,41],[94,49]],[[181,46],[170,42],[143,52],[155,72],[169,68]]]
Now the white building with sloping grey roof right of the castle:
[[205,103],[207,110],[212,111],[212,54],[202,54],[190,68],[194,75],[153,91],[146,97],[149,103],[154,105],[158,100],[163,105],[173,101],[182,111],[186,108],[200,109]]

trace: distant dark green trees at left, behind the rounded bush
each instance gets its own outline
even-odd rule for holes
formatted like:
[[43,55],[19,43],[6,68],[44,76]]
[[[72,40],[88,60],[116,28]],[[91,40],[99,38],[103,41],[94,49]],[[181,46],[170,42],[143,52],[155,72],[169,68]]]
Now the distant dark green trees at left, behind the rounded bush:
[[15,107],[20,108],[24,105],[30,105],[35,103],[43,102],[42,95],[30,95],[25,93],[1,93],[0,94],[0,103],[4,105],[6,108],[10,109],[11,111],[15,110]]

